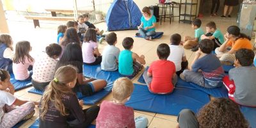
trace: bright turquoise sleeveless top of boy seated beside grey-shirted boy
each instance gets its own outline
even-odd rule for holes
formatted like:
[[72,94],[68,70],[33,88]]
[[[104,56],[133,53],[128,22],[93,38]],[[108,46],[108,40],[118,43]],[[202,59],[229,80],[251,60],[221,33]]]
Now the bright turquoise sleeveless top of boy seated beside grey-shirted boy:
[[121,51],[118,58],[118,72],[129,76],[133,74],[132,52],[129,50]]

